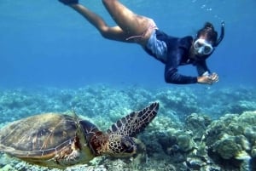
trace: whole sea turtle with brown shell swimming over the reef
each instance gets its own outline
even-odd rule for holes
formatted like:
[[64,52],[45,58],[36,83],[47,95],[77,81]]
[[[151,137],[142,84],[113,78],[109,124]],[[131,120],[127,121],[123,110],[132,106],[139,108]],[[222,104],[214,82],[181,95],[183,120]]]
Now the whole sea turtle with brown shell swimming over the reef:
[[10,123],[0,130],[0,151],[23,161],[49,168],[67,168],[105,154],[132,155],[134,136],[157,114],[157,102],[113,123],[102,132],[87,120],[58,113],[44,113]]

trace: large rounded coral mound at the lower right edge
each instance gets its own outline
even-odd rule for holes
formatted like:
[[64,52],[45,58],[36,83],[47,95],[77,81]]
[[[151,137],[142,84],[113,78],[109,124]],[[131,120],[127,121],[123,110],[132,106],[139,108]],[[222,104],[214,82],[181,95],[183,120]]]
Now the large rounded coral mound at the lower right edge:
[[228,114],[207,128],[205,140],[211,157],[225,167],[250,168],[256,145],[256,111]]

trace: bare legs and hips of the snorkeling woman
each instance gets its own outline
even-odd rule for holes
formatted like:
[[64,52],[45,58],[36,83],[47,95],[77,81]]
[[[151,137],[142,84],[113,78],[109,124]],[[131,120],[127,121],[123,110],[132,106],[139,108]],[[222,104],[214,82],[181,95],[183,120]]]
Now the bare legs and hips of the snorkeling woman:
[[134,14],[117,0],[102,0],[118,26],[109,27],[102,18],[79,3],[69,4],[101,32],[103,37],[125,43],[145,45],[154,29],[154,21]]

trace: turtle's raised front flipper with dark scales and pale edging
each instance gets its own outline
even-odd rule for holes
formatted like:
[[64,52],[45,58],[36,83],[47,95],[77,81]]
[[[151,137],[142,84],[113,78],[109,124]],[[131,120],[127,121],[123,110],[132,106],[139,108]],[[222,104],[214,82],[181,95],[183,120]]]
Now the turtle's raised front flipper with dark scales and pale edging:
[[126,117],[113,123],[108,129],[108,134],[119,134],[125,136],[135,136],[143,131],[144,128],[154,119],[159,109],[159,103],[154,102],[141,111],[132,111]]

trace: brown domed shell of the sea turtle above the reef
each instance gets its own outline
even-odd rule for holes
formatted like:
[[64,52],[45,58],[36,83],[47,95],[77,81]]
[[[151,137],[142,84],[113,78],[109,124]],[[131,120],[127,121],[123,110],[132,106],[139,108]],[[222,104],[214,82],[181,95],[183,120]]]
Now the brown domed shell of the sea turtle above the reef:
[[26,162],[65,168],[94,157],[86,140],[97,131],[94,124],[78,117],[45,113],[2,128],[0,151]]

